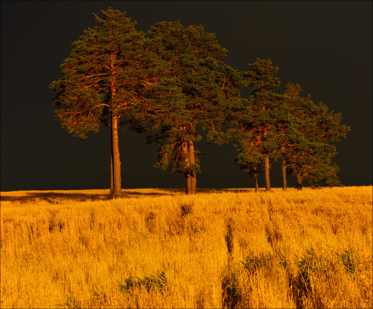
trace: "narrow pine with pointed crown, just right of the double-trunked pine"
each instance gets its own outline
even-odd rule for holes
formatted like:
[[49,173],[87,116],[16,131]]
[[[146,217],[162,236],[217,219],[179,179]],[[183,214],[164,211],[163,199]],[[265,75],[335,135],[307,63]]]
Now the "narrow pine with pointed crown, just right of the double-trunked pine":
[[266,191],[271,190],[269,171],[279,156],[280,125],[289,123],[289,112],[281,95],[274,93],[280,78],[273,77],[278,67],[270,60],[257,58],[252,69],[244,72],[252,88],[249,102],[243,112],[236,113],[235,126],[229,130],[231,139],[240,152],[235,162],[254,178],[257,191],[257,173],[264,170]]

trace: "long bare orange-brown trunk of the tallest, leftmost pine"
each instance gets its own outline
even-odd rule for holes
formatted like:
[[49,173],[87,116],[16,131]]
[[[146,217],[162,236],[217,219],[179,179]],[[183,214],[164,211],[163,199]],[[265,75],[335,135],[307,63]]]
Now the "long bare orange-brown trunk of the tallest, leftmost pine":
[[112,112],[111,128],[112,135],[112,163],[113,163],[113,196],[111,198],[122,197],[122,178],[120,177],[120,157],[118,140],[118,117],[116,112]]

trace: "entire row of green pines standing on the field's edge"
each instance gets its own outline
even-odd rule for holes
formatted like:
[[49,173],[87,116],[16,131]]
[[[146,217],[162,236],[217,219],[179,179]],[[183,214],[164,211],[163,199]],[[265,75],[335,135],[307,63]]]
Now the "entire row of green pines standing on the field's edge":
[[[222,61],[226,50],[202,26],[164,21],[146,35],[125,13],[111,7],[101,13],[104,18],[94,14],[98,26],[72,44],[61,65],[64,75],[50,89],[55,117],[68,133],[86,138],[101,124],[110,127],[110,198],[121,197],[120,127],[151,130],[147,143],[159,146],[155,167],[184,174],[186,194],[196,193],[201,172],[201,129],[208,143],[234,142],[235,162],[253,177],[256,191],[263,172],[271,190],[276,160],[282,162],[283,190],[286,174],[297,177],[298,189],[304,179],[313,188],[320,181],[341,185],[332,142],[350,127],[322,102],[301,97],[298,84],[276,92],[278,68],[269,59],[258,58],[249,71],[238,72]],[[251,95],[241,98],[239,89],[248,86]]]

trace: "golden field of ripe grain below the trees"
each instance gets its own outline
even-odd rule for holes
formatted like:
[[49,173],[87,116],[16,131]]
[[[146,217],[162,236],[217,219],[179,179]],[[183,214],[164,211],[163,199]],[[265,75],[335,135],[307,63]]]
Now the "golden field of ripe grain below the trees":
[[1,192],[1,308],[373,306],[372,186],[123,194]]

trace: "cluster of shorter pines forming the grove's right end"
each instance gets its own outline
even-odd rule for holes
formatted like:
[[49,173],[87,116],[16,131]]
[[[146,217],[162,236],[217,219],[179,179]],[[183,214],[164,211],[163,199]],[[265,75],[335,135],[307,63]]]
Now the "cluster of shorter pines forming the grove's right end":
[[[297,176],[299,189],[303,179],[311,187],[317,187],[321,180],[328,186],[340,185],[339,168],[332,162],[337,154],[332,142],[350,131],[340,124],[341,114],[329,112],[323,103],[315,105],[310,95],[302,98],[298,84],[287,84],[282,95],[275,93],[280,80],[273,77],[278,68],[270,60],[258,58],[249,65],[252,69],[244,76],[253,87],[252,93],[233,113],[228,130],[229,140],[235,140],[239,151],[236,164],[256,181],[266,164],[269,172],[273,162],[281,158],[285,190],[286,173]],[[268,189],[269,173],[265,179]]]

